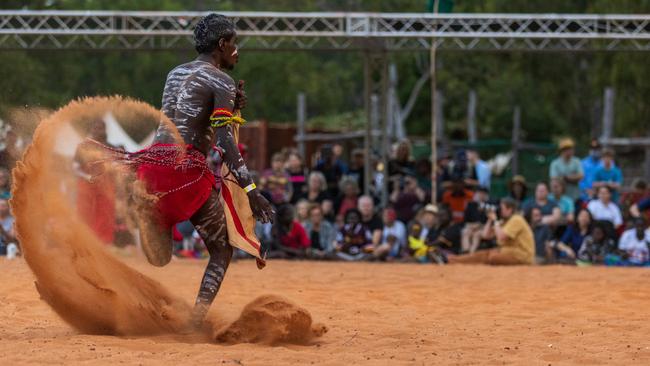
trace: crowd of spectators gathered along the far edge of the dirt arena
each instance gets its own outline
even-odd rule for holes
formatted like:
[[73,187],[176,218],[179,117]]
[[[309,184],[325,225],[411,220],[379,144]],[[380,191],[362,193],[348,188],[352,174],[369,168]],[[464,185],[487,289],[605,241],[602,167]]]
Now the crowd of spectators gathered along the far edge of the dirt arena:
[[[490,166],[471,149],[441,154],[432,173],[429,160],[414,161],[403,141],[386,167],[373,163],[366,195],[363,150],[351,151],[348,160],[342,145],[325,145],[307,164],[297,150],[286,149],[272,156],[269,169],[254,173],[276,208],[274,223],[258,223],[256,234],[269,258],[649,265],[646,182],[624,189],[614,152],[597,141],[584,159],[574,156],[570,139],[560,142],[558,152],[548,180],[532,183],[515,175],[508,194],[495,197]],[[0,168],[3,255],[17,243],[9,181],[9,170]],[[207,256],[190,223],[177,225],[174,237],[177,256]]]

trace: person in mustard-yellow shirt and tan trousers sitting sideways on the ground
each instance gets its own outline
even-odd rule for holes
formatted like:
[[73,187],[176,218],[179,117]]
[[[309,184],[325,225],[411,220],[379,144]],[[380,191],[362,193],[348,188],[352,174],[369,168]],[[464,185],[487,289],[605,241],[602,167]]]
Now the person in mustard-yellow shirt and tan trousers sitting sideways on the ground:
[[526,220],[517,214],[517,202],[504,198],[500,204],[504,224],[497,221],[495,211],[489,211],[484,237],[495,237],[498,247],[478,250],[473,254],[449,256],[450,264],[484,263],[496,265],[533,264],[535,259],[535,240]]

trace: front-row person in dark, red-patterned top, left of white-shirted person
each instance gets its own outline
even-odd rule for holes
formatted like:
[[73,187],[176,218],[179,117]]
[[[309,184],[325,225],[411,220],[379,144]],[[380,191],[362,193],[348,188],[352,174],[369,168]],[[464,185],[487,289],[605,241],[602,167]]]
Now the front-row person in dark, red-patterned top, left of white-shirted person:
[[361,223],[361,213],[351,208],[345,213],[343,226],[336,236],[336,256],[346,261],[358,261],[372,251],[370,231]]

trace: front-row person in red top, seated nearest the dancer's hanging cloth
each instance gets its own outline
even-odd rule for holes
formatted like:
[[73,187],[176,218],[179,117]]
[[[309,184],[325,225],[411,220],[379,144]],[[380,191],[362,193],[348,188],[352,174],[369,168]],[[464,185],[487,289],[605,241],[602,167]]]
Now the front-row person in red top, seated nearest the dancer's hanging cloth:
[[260,239],[270,248],[269,258],[304,258],[311,248],[305,229],[294,219],[293,207],[287,204],[278,208],[272,225],[264,226]]

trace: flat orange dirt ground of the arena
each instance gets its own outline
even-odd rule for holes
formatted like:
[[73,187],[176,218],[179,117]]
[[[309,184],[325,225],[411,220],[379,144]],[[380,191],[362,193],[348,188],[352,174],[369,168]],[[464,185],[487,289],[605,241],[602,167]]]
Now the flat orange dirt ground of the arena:
[[[191,302],[205,263],[126,262]],[[63,269],[62,269],[63,270]],[[22,260],[0,259],[0,363],[650,364],[650,271],[272,261],[233,263],[210,318],[279,294],[329,331],[311,345],[199,336],[78,334],[39,300]]]

